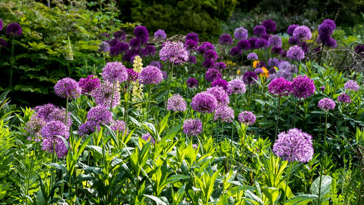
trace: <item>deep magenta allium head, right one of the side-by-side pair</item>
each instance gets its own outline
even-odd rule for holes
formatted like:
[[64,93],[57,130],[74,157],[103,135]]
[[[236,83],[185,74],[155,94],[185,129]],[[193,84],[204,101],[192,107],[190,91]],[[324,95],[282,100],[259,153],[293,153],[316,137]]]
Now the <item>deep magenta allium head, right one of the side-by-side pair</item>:
[[315,93],[315,84],[307,76],[296,76],[292,81],[292,94],[294,97],[306,98]]

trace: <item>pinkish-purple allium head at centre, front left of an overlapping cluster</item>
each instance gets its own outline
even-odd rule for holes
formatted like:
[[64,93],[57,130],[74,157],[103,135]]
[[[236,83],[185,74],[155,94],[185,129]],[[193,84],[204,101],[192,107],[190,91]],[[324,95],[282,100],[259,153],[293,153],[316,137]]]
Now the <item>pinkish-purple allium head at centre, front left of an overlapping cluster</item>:
[[197,93],[191,101],[191,107],[195,111],[202,113],[213,113],[217,106],[215,96],[206,91]]

